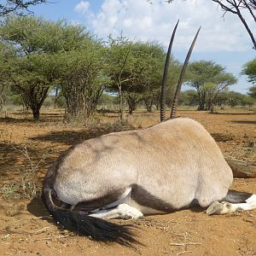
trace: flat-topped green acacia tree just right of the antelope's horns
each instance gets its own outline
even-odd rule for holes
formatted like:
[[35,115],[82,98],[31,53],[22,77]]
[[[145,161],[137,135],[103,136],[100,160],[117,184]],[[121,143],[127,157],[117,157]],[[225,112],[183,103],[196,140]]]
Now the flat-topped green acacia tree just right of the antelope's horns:
[[225,72],[224,67],[212,61],[195,61],[189,64],[187,84],[197,92],[198,110],[212,110],[218,93],[236,84],[236,81],[231,73]]

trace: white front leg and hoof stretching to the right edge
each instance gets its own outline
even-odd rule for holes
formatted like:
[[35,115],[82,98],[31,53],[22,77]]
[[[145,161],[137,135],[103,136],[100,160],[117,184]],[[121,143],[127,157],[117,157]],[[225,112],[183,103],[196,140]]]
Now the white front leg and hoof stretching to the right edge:
[[256,195],[251,195],[246,203],[232,204],[226,201],[214,201],[210,207],[207,208],[207,214],[226,214],[237,211],[249,211],[256,208]]

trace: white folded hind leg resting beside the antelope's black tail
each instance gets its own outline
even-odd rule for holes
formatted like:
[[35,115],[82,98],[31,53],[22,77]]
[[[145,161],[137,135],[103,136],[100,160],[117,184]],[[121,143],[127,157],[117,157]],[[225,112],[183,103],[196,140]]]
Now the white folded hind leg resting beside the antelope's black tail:
[[111,219],[111,218],[131,219],[131,218],[142,218],[143,213],[138,211],[137,208],[135,207],[130,207],[127,204],[120,204],[118,207],[113,208],[111,210],[102,210],[102,211],[94,212],[89,216],[96,217],[96,218],[104,218],[104,219]]

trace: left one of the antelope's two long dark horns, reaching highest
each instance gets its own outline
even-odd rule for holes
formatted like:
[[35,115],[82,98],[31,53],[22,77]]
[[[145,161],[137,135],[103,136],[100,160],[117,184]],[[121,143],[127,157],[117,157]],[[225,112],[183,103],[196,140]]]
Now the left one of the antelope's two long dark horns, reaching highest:
[[166,55],[166,64],[165,64],[165,69],[164,69],[164,75],[163,75],[162,86],[161,86],[161,96],[160,96],[160,121],[161,122],[166,119],[166,81],[167,81],[168,68],[169,68],[169,64],[170,64],[172,43],[173,43],[173,40],[175,37],[175,32],[177,29],[178,22],[179,22],[179,20],[177,20],[176,26],[173,29],[172,38],[170,40],[170,44],[169,44],[167,55]]

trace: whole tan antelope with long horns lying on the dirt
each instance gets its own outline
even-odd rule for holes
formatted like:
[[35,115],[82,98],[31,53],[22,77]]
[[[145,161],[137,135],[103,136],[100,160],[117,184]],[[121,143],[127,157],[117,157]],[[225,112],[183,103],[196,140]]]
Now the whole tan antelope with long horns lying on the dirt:
[[[177,99],[174,109],[176,104]],[[43,200],[64,228],[128,245],[135,241],[129,227],[106,219],[141,218],[195,204],[208,207],[207,214],[255,208],[256,195],[229,190],[232,180],[230,166],[205,128],[177,118],[68,149],[44,178]]]

